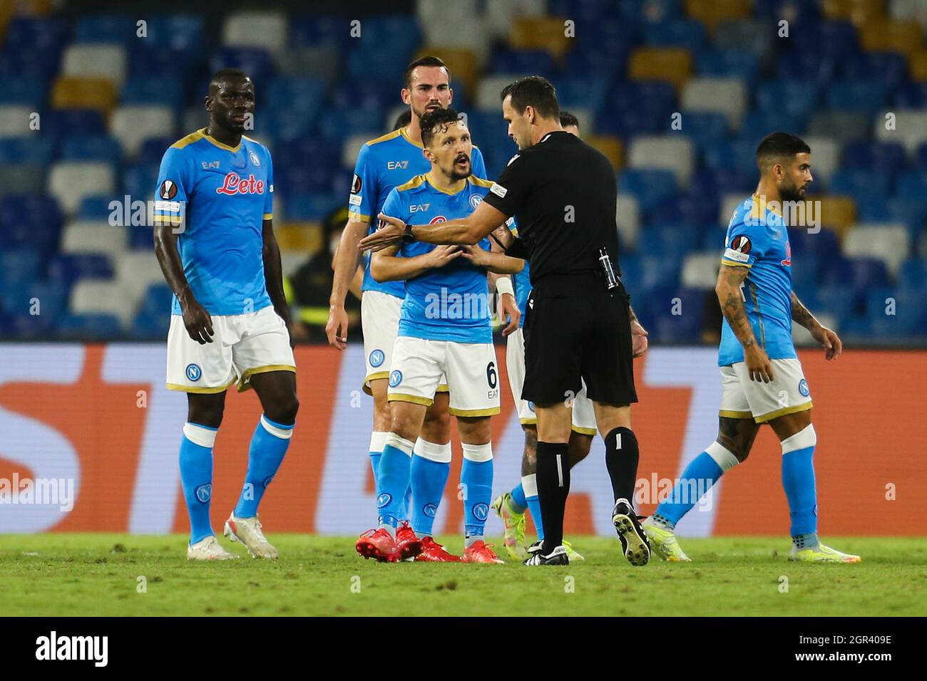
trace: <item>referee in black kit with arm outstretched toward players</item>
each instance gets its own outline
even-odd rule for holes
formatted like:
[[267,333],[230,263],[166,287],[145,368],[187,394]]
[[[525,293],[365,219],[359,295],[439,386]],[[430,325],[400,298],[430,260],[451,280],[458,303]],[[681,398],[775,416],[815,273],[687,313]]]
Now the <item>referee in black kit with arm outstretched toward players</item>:
[[[502,115],[519,153],[464,220],[383,225],[361,241],[379,250],[406,238],[429,244],[473,245],[492,233],[507,255],[527,259],[533,291],[525,322],[522,398],[538,415],[538,494],[544,543],[527,565],[565,565],[564,509],[570,488],[567,441],[570,400],[586,382],[616,504],[612,521],[632,565],[650,545],[632,506],[638,443],[630,429],[637,402],[628,294],[619,278],[615,221],[617,185],[607,158],[560,126],[553,85],[540,76],[502,90]],[[519,238],[505,221],[515,216]],[[645,332],[637,326],[639,334]]]

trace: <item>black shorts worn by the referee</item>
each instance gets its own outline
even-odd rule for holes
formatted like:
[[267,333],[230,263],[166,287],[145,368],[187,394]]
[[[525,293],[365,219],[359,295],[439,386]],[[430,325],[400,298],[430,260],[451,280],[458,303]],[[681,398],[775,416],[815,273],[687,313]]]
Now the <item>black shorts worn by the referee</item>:
[[540,282],[528,296],[522,399],[562,402],[578,394],[582,377],[595,402],[637,402],[624,286],[607,291],[596,277],[582,287],[561,283]]

